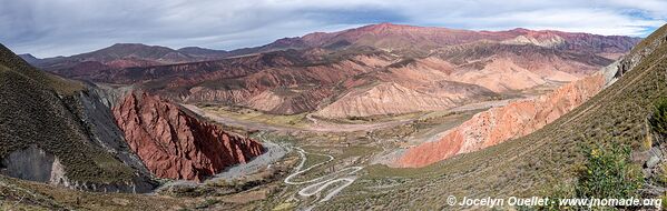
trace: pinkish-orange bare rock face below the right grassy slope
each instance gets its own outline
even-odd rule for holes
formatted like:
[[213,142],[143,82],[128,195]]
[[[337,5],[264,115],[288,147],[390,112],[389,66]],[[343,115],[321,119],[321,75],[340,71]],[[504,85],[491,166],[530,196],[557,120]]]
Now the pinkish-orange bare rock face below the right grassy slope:
[[439,141],[409,149],[398,160],[396,165],[424,167],[455,154],[523,137],[586,102],[598,93],[604,84],[602,74],[596,73],[540,98],[517,101],[478,113],[461,125],[447,131]]

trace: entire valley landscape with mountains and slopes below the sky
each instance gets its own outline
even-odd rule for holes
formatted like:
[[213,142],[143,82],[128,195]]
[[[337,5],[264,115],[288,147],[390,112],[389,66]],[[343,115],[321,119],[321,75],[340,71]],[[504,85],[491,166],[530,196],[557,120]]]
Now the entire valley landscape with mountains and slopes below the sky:
[[474,210],[447,197],[591,197],[605,147],[663,198],[665,42],[379,23],[230,51],[0,46],[0,209]]

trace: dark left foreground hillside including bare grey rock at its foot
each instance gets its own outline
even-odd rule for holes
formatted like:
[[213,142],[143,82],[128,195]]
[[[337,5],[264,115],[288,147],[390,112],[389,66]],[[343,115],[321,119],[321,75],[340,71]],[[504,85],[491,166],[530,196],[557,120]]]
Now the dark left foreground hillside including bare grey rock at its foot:
[[115,125],[97,118],[110,117],[108,111],[87,103],[96,96],[84,84],[42,73],[3,46],[0,74],[3,174],[84,190],[153,188]]

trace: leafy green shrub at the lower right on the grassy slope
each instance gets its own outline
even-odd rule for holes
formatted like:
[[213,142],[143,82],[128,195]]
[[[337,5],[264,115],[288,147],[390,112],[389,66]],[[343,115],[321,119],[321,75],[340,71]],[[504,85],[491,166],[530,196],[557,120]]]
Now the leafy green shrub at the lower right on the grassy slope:
[[628,145],[592,145],[585,148],[587,163],[578,172],[575,192],[578,198],[637,197],[644,183],[640,168],[630,161]]

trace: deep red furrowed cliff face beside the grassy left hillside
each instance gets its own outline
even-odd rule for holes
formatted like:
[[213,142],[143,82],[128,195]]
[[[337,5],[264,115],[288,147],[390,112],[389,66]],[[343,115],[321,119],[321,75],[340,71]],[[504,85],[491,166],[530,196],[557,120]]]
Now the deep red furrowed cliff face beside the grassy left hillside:
[[159,178],[202,181],[263,153],[259,143],[147,93],[128,94],[114,107],[114,118],[131,150]]

